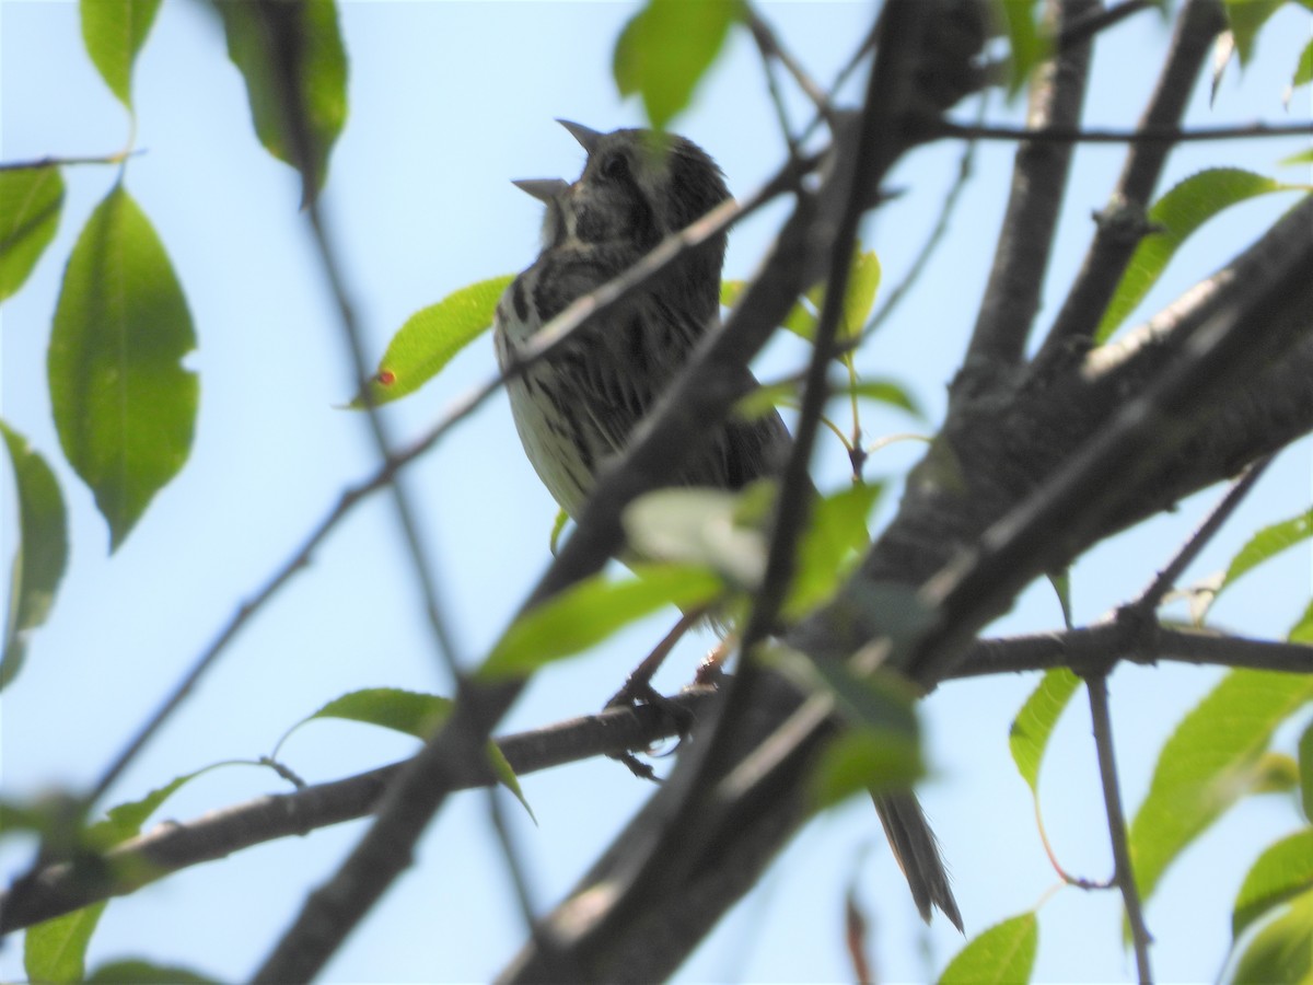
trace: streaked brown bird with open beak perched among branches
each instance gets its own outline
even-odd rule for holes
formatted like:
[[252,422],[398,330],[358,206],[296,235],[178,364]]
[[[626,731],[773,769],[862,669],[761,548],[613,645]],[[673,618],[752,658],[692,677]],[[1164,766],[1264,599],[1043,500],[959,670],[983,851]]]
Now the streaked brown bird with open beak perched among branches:
[[[546,209],[537,259],[506,289],[494,317],[498,362],[529,462],[557,503],[578,517],[609,461],[720,323],[727,232],[684,251],[659,274],[586,320],[546,357],[517,369],[524,347],[572,301],[641,260],[730,198],[706,151],[668,133],[599,133],[558,121],[587,154],[574,183],[516,181]],[[739,391],[755,389],[751,370]],[[730,416],[671,475],[672,486],[737,491],[775,477],[790,436],[779,412]],[[924,919],[937,906],[961,930],[939,843],[911,792],[873,795],[913,900]]]

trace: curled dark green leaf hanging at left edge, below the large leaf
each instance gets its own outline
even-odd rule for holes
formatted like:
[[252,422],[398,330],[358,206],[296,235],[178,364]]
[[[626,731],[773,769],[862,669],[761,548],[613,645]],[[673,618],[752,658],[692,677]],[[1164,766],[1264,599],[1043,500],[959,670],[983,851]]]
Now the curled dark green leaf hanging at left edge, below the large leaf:
[[68,517],[59,482],[46,461],[4,422],[0,422],[0,435],[9,450],[18,503],[18,545],[9,583],[4,657],[0,658],[3,690],[22,666],[28,636],[50,613],[68,563]]

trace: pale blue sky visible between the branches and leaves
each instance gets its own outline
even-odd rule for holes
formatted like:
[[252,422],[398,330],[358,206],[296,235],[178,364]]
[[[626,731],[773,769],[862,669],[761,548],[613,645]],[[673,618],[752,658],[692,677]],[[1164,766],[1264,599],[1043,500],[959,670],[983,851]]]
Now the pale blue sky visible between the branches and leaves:
[[[618,98],[609,75],[612,45],[634,9],[433,0],[341,7],[351,106],[324,209],[372,356],[415,310],[533,259],[540,206],[509,180],[575,177],[582,151],[554,117],[601,130],[642,122],[639,108]],[[857,3],[767,4],[763,11],[822,81],[832,77],[869,17],[869,7]],[[1242,80],[1232,72],[1213,109],[1200,92],[1192,121],[1283,118],[1284,80],[1308,32],[1306,16],[1280,14],[1260,38],[1260,64]],[[1134,118],[1166,42],[1153,14],[1119,29],[1095,60],[1091,125],[1125,126]],[[45,385],[45,344],[63,257],[114,181],[110,168],[70,169],[59,236],[24,290],[0,310],[0,411],[56,466],[74,552],[50,624],[34,638],[24,675],[5,692],[0,737],[7,796],[91,781],[340,490],[372,468],[364,422],[336,408],[353,381],[297,213],[295,177],[255,141],[240,79],[205,7],[164,4],[137,70],[135,95],[137,144],[146,152],[130,162],[126,184],[168,248],[196,319],[200,348],[189,359],[201,374],[196,443],[184,471],[123,548],[106,557],[108,533],[91,495],[60,465]],[[1305,89],[1292,112],[1306,117],[1308,109]],[[1014,118],[1018,112],[995,110]],[[783,142],[746,37],[733,39],[729,58],[675,127],[716,156],[738,193],[772,171]],[[0,158],[109,152],[126,133],[121,106],[81,50],[76,5],[0,0]],[[1195,144],[1174,158],[1163,188],[1218,164],[1272,173],[1275,162],[1300,146]],[[953,146],[928,147],[893,175],[903,196],[864,230],[867,244],[881,255],[886,284],[919,248],[958,156]],[[860,357],[867,373],[903,381],[930,423],[872,412],[864,419],[868,432],[927,431],[939,420],[989,272],[1008,162],[1006,144],[981,148],[974,184],[936,265]],[[1116,147],[1077,155],[1041,323],[1079,264],[1090,213],[1104,204],[1119,163]],[[1289,169],[1279,173],[1308,180]],[[1225,261],[1288,202],[1272,197],[1208,226],[1144,310]],[[775,210],[735,230],[727,276],[751,274],[779,217]],[[788,344],[773,345],[762,374],[786,372],[797,356]],[[420,433],[494,365],[490,344],[473,345],[437,381],[389,408],[394,433]],[[873,458],[868,474],[895,477],[916,454],[919,445],[894,445]],[[1224,566],[1255,527],[1306,510],[1310,457],[1308,441],[1283,456],[1191,574]],[[840,448],[822,449],[823,487],[842,485],[843,464]],[[425,546],[440,566],[461,654],[473,662],[541,571],[554,506],[520,452],[504,399],[490,402],[418,462],[406,486],[421,506]],[[1096,619],[1148,583],[1215,496],[1204,494],[1152,529],[1092,552],[1074,575],[1078,620]],[[8,558],[14,529],[8,492],[3,502],[0,553]],[[210,762],[268,753],[290,724],[347,691],[389,686],[449,693],[399,544],[386,498],[357,511],[243,633],[114,788],[110,802],[139,797]],[[1309,573],[1308,550],[1292,552],[1253,575],[1251,584],[1237,586],[1217,620],[1259,636],[1284,632],[1308,599]],[[667,623],[666,615],[650,620],[597,653],[553,668],[530,687],[504,730],[596,709]],[[1052,592],[1035,587],[991,632],[1060,625]],[[678,687],[708,645],[700,640],[683,647],[662,682]],[[1153,751],[1215,680],[1208,671],[1174,668],[1121,670],[1113,678],[1129,804],[1144,795]],[[949,684],[924,707],[934,777],[923,796],[969,932],[1032,908],[1056,881],[1006,745],[1008,722],[1032,687],[1029,678]],[[315,724],[289,742],[284,756],[306,779],[327,780],[411,750],[412,743],[366,726]],[[1111,863],[1079,701],[1049,755],[1041,789],[1050,839],[1071,871],[1104,877]],[[171,800],[163,816],[184,820],[278,789],[267,771],[215,771]],[[525,793],[538,825],[516,814],[516,834],[537,900],[548,905],[649,791],[604,762],[527,777]],[[1162,978],[1216,976],[1234,888],[1251,855],[1295,823],[1288,802],[1242,805],[1169,873],[1149,909]],[[495,973],[524,932],[486,827],[482,795],[454,799],[425,835],[415,868],[347,942],[326,980],[477,981]],[[341,825],[253,848],[116,901],[92,946],[92,964],[140,953],[225,980],[244,977],[306,889],[334,871],[361,830],[360,823]],[[16,847],[0,850],[0,872],[8,877],[24,860]],[[842,901],[852,881],[874,918],[881,977],[923,978],[958,947],[943,921],[922,929],[872,812],[853,804],[797,839],[680,978],[850,977]],[[1116,946],[1119,913],[1107,893],[1057,893],[1041,913],[1037,977],[1132,974],[1133,964]],[[21,974],[18,948],[0,951],[0,977]]]

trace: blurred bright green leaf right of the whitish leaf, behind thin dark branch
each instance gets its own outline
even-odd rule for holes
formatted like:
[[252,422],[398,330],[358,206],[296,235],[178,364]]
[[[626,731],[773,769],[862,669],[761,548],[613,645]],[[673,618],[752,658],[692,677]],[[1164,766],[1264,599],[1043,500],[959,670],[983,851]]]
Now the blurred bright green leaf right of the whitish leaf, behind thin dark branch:
[[859,483],[815,500],[798,542],[798,562],[784,604],[784,617],[797,620],[829,600],[871,542],[867,519],[884,487]]

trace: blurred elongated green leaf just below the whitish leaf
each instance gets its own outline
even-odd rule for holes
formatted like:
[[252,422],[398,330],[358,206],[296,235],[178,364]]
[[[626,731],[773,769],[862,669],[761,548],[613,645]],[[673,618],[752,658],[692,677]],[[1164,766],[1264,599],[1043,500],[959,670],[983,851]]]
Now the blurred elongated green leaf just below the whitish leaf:
[[663,605],[702,605],[722,591],[721,580],[695,565],[635,565],[634,578],[597,574],[530,609],[502,634],[479,676],[527,675],[545,663],[601,642],[621,626]]

